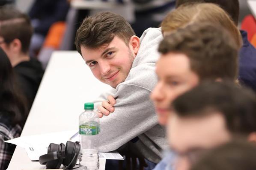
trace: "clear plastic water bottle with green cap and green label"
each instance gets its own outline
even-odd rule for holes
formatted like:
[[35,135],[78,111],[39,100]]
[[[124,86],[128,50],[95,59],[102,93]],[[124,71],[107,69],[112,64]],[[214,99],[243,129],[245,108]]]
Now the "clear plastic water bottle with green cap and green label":
[[98,170],[99,118],[93,103],[84,104],[84,112],[79,116],[80,156],[79,169]]

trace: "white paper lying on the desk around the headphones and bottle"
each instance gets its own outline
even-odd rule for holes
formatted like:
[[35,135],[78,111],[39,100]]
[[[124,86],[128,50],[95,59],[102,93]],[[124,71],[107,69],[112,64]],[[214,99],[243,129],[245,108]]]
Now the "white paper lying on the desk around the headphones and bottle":
[[[31,161],[38,161],[39,156],[47,154],[48,146],[51,143],[54,144],[66,144],[68,139],[73,136],[77,131],[65,131],[58,133],[47,133],[42,135],[33,135],[33,136],[22,136],[19,138],[14,138],[9,141],[5,141],[7,143],[15,144],[17,146],[23,147],[28,157]],[[79,136],[77,135],[71,141],[78,141]],[[110,153],[99,153],[100,159],[124,159],[118,152],[110,152]]]

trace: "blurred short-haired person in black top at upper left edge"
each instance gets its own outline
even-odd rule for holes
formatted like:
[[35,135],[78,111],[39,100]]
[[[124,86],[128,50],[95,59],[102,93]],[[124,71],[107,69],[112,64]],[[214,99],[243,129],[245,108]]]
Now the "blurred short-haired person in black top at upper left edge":
[[17,74],[18,85],[27,98],[29,108],[44,73],[41,63],[29,56],[32,34],[33,28],[26,14],[14,8],[0,8],[0,47]]

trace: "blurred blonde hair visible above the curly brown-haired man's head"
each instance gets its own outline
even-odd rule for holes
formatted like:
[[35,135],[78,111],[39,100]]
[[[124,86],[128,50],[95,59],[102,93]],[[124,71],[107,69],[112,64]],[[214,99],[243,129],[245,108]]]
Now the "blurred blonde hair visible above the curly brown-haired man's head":
[[161,23],[163,35],[188,26],[191,23],[209,22],[222,26],[234,38],[238,49],[241,47],[241,35],[235,23],[229,15],[219,6],[213,3],[197,3],[180,6],[164,18]]

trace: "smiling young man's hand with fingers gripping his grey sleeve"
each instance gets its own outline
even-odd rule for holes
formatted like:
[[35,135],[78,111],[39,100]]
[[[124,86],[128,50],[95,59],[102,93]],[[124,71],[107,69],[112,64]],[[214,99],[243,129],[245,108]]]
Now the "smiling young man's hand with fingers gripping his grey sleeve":
[[109,115],[115,111],[113,107],[116,104],[116,100],[112,95],[107,97],[107,101],[102,101],[101,105],[98,106],[98,117],[102,118],[103,115]]

